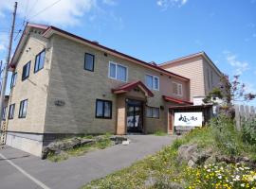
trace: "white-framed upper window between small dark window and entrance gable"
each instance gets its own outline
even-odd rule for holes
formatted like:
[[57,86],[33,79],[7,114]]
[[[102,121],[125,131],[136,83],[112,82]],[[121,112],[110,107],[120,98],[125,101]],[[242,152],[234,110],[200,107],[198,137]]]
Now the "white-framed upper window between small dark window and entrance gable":
[[127,81],[127,67],[120,65],[118,63],[110,62],[108,77],[126,82]]

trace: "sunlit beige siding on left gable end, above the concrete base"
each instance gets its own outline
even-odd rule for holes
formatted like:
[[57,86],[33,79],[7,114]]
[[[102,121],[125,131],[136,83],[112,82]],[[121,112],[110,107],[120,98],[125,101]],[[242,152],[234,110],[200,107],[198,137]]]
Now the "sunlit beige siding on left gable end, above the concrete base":
[[[46,39],[39,34],[31,32],[25,49],[18,60],[15,72],[17,80],[9,94],[9,105],[15,103],[14,118],[8,121],[8,130],[22,132],[44,132],[46,117],[46,96],[48,86],[48,70],[50,64],[51,48]],[[43,70],[34,74],[34,62],[36,55],[46,48],[46,61]],[[31,60],[29,77],[22,81],[23,66]],[[18,118],[20,102],[27,101],[26,118]],[[7,111],[7,117],[9,110]]]

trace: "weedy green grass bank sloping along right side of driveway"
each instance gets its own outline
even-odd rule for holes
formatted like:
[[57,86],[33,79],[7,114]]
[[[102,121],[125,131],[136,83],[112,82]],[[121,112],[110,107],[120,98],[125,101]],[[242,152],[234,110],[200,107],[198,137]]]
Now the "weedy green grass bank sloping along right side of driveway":
[[[212,153],[256,157],[255,146],[242,141],[241,134],[233,129],[233,122],[220,117],[212,120],[210,127],[193,129],[170,146],[164,147],[153,156],[110,174],[100,180],[93,180],[83,189],[133,189],[133,188],[174,188],[174,182],[188,188],[194,182],[200,169],[190,169],[187,164],[177,162],[177,149],[185,144],[197,144],[199,149]],[[220,129],[221,128],[221,129]],[[154,180],[154,184],[150,184]],[[200,184],[200,183],[199,183]],[[195,187],[197,188],[197,187]],[[203,187],[201,187],[203,188]],[[213,187],[215,188],[215,187]]]

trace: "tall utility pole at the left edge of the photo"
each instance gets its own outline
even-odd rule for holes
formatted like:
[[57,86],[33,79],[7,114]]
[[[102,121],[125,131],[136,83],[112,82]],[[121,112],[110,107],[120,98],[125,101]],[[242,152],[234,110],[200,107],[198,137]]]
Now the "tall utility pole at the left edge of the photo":
[[6,88],[7,88],[9,60],[10,60],[10,53],[11,53],[11,46],[12,46],[12,39],[13,39],[13,31],[14,31],[14,26],[15,26],[17,4],[18,4],[17,2],[15,2],[15,4],[14,4],[11,30],[9,33],[9,48],[8,48],[8,53],[7,53],[6,65],[4,66],[4,70],[3,70],[3,82],[2,82],[2,90],[1,90],[1,98],[0,98],[0,124],[1,125],[2,125],[2,114],[3,114],[3,108],[4,108],[4,102],[5,102]]

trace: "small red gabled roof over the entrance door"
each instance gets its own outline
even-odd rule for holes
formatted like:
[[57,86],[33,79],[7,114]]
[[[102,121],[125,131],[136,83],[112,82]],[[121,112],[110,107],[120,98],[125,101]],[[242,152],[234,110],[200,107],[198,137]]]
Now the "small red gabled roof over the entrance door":
[[143,90],[145,93],[147,93],[148,96],[151,96],[151,97],[154,96],[154,94],[150,91],[150,89],[147,88],[146,85],[144,85],[144,83],[142,83],[140,80],[121,85],[117,89],[112,89],[112,92],[114,94],[123,94],[123,93],[131,91],[132,89],[134,89],[136,87],[139,87],[141,90]]

